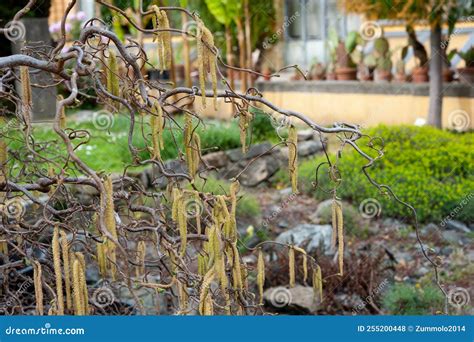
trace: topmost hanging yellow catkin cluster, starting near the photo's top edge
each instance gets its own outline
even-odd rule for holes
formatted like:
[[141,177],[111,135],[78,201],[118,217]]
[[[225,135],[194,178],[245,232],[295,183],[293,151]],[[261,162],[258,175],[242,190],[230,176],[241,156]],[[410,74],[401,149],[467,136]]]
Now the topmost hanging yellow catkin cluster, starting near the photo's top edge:
[[[158,41],[159,69],[161,71],[171,69],[171,33],[170,24],[166,11],[160,10],[158,6],[152,6],[155,16],[152,17],[153,29],[159,29],[155,38]],[[155,40],[155,38],[153,40]]]

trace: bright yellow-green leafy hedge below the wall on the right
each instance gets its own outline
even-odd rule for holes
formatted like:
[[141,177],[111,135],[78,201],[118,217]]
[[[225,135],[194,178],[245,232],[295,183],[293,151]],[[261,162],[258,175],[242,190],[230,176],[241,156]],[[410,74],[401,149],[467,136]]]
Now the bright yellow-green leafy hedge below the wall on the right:
[[[385,155],[369,169],[369,174],[378,183],[389,185],[401,200],[412,204],[420,221],[440,223],[453,212],[457,213],[454,217],[457,220],[474,221],[474,201],[468,200],[474,191],[473,133],[458,134],[414,126],[378,126],[365,133],[382,137],[385,142]],[[366,147],[367,143],[368,139],[365,139],[359,145],[375,156],[376,153]],[[303,162],[299,178],[303,191],[313,191],[318,198],[328,198],[327,194],[311,187],[315,168],[322,160],[320,157]],[[346,146],[339,161],[343,181],[338,195],[352,200],[355,206],[364,199],[374,198],[380,202],[383,216],[409,217],[410,212],[404,206],[380,194],[369,183],[361,169],[365,163],[363,157]],[[279,177],[287,180],[285,173]],[[328,177],[320,177],[320,185],[331,187]],[[467,203],[463,204],[463,201]]]

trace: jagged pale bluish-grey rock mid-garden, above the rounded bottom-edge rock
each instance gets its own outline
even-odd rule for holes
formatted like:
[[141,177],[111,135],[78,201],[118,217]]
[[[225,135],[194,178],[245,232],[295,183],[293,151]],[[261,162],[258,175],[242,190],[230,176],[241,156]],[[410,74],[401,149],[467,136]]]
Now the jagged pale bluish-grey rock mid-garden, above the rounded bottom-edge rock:
[[332,254],[331,234],[332,227],[330,225],[304,223],[281,233],[276,238],[276,242],[294,244],[305,248],[309,253],[321,248],[325,254]]

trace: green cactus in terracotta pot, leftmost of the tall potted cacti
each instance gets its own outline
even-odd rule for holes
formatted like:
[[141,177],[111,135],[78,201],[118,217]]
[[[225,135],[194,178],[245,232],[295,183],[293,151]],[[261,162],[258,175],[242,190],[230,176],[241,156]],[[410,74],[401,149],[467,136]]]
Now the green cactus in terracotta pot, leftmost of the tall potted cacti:
[[352,31],[347,36],[346,41],[339,41],[336,48],[336,79],[341,81],[351,81],[357,79],[356,64],[352,60],[351,54],[354,52],[360,35]]

